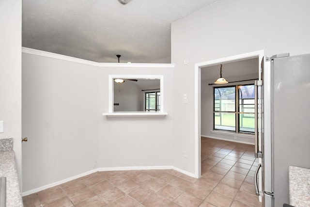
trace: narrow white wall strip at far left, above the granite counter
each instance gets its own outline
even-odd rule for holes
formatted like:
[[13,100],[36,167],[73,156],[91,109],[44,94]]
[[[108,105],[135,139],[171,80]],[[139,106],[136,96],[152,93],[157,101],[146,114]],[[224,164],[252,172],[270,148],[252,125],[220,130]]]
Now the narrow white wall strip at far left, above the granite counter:
[[0,0],[0,120],[1,138],[14,138],[21,181],[21,0]]

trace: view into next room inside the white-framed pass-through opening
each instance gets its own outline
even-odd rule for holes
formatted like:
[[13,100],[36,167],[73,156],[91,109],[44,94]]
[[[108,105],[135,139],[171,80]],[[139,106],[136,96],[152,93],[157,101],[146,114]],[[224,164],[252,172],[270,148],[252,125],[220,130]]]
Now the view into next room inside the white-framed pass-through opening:
[[160,85],[159,78],[113,78],[113,111],[160,111]]

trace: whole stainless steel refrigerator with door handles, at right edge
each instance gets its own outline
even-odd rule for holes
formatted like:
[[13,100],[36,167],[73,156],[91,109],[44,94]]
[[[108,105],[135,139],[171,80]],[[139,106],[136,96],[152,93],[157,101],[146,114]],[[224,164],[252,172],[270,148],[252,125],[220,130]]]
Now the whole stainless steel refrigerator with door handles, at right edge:
[[263,57],[259,77],[255,154],[261,164],[254,182],[262,207],[282,207],[289,204],[289,166],[310,169],[310,54]]

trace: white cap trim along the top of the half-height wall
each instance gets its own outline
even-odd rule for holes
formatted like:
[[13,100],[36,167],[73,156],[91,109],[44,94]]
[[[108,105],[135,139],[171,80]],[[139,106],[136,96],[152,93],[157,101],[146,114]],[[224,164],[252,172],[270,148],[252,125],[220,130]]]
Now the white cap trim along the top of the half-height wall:
[[22,47],[22,53],[39,55],[48,58],[54,58],[58,60],[70,61],[74,63],[93,65],[98,67],[146,67],[146,68],[174,68],[175,64],[151,64],[151,63],[97,63],[94,61],[88,61],[80,58],[70,57],[66,55],[56,54],[52,52],[42,51],[32,48]]

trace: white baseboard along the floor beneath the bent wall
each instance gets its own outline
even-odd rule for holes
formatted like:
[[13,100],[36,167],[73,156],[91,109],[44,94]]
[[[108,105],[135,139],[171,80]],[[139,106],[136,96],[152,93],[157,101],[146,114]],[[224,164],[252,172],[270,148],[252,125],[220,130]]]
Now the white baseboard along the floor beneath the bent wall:
[[175,171],[178,171],[178,172],[180,172],[182,174],[185,174],[185,175],[188,175],[188,176],[191,176],[191,177],[195,177],[194,174],[189,173],[189,172],[184,171],[184,170],[181,170],[181,169],[176,168],[174,166],[106,167],[106,168],[96,168],[96,169],[93,169],[91,171],[79,174],[79,175],[75,175],[75,176],[72,176],[72,177],[69,177],[69,178],[66,178],[66,179],[63,179],[63,180],[59,180],[59,181],[54,182],[54,183],[47,184],[45,186],[41,186],[41,187],[32,189],[30,191],[22,192],[21,194],[22,194],[22,196],[30,195],[32,193],[35,193],[35,192],[38,192],[38,191],[43,191],[43,190],[46,190],[48,188],[52,188],[54,186],[61,185],[63,183],[69,182],[71,180],[78,179],[78,178],[86,176],[86,175],[90,175],[90,174],[95,173],[95,172],[125,171],[125,170],[175,170]]

